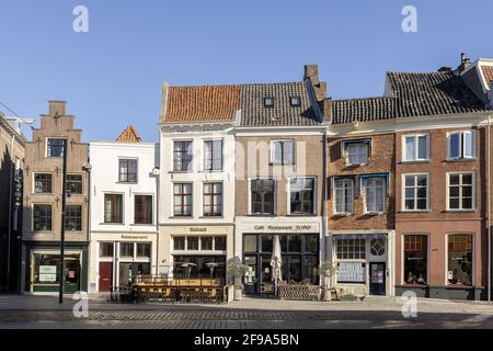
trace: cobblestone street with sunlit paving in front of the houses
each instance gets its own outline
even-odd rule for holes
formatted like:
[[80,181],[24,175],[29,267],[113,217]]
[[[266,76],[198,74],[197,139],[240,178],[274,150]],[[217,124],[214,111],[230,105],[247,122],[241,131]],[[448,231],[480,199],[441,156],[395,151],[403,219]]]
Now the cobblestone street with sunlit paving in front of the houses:
[[229,305],[113,304],[90,299],[89,317],[77,318],[73,301],[0,296],[0,328],[145,329],[340,329],[493,328],[493,306],[419,299],[417,317],[404,318],[395,298],[363,302],[288,302],[245,298]]

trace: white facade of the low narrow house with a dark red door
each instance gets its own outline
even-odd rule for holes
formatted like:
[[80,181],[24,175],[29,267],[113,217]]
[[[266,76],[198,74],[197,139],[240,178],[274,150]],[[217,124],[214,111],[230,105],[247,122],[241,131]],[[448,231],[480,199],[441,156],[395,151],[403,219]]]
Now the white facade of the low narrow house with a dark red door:
[[[123,282],[123,267],[133,263],[149,264],[149,272],[157,273],[157,242],[158,242],[158,177],[154,169],[158,167],[157,144],[153,143],[121,143],[121,141],[92,141],[90,143],[91,163],[91,224],[90,224],[90,252],[89,252],[89,291],[100,292],[100,269],[102,264],[112,265],[112,286]],[[121,159],[137,160],[137,181],[119,182],[118,167]],[[122,195],[121,223],[105,223],[105,195]],[[152,196],[152,220],[149,224],[135,223],[136,196]],[[106,220],[107,222],[107,220]],[[118,220],[119,222],[119,220]],[[111,254],[100,252],[103,244],[113,245]],[[150,245],[145,256],[138,252],[142,245]],[[133,247],[133,254],[125,254],[123,245]],[[130,249],[131,250],[131,249]],[[107,267],[108,267],[107,265]],[[147,268],[146,268],[147,270]],[[106,273],[107,274],[107,273]]]

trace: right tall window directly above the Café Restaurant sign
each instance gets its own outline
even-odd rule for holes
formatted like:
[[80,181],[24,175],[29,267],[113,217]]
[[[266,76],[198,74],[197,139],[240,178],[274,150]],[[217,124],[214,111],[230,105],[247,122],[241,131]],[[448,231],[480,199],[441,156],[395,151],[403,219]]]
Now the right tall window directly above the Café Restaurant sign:
[[314,178],[289,179],[289,213],[312,215],[314,212]]

